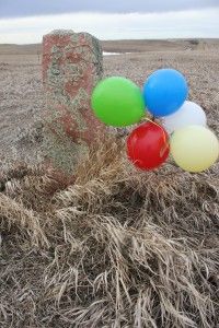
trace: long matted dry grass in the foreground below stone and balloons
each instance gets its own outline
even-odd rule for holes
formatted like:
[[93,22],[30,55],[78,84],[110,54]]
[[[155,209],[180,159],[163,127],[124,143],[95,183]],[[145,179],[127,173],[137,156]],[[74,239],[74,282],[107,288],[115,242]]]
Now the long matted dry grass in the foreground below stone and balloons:
[[217,327],[218,172],[138,172],[116,139],[69,186],[41,167],[8,172],[0,327]]

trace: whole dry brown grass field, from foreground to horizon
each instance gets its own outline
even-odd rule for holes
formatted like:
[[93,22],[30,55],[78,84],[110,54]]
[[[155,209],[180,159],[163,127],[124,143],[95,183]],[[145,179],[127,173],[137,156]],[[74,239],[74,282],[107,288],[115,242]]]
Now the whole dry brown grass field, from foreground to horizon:
[[[219,42],[105,42],[105,77],[182,71],[219,136]],[[135,50],[135,51],[134,51]],[[219,327],[219,163],[139,172],[125,138],[66,185],[37,165],[41,47],[0,45],[0,327]]]

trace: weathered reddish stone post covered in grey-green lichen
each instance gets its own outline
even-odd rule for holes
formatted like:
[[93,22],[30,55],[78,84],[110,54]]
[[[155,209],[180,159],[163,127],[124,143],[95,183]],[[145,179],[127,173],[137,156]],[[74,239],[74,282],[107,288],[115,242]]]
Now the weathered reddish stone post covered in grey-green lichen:
[[44,36],[44,149],[51,165],[68,175],[104,131],[90,108],[102,61],[99,40],[88,33],[60,30]]

